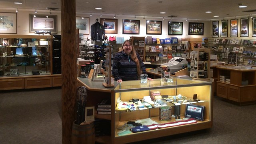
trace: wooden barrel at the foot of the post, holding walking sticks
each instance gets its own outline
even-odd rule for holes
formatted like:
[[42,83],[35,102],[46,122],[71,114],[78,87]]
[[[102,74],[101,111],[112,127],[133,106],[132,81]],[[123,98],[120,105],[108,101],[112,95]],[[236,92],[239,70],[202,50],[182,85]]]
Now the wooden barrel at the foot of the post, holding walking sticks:
[[95,144],[94,122],[78,125],[73,122],[72,126],[72,144]]

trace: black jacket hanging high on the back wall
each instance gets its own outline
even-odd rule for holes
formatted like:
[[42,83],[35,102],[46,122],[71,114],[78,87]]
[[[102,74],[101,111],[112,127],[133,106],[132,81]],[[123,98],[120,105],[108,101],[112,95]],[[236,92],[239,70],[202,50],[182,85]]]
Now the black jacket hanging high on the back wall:
[[105,39],[105,28],[100,22],[95,22],[91,26],[91,38],[92,40],[104,40]]

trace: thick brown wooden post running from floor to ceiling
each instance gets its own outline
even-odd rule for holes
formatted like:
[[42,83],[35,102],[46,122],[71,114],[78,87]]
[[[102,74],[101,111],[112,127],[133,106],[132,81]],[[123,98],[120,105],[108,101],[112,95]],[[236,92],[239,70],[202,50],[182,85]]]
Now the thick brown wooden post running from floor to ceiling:
[[62,144],[71,144],[76,102],[76,1],[61,0]]

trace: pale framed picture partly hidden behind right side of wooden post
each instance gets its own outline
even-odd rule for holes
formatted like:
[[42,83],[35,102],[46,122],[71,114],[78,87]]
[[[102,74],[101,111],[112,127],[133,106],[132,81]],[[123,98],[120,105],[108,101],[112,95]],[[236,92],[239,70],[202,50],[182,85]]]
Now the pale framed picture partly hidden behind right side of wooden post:
[[90,34],[90,18],[76,16],[76,28],[79,30],[79,34]]

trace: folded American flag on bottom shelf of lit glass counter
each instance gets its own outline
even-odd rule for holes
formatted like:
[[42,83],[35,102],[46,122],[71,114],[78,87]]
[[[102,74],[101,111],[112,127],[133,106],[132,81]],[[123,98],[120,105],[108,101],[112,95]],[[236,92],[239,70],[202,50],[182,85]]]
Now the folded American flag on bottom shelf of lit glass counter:
[[180,125],[193,124],[193,123],[197,123],[197,121],[194,120],[194,118],[190,118],[188,120],[179,120],[179,121],[167,122],[167,123],[163,123],[163,124],[151,124],[151,125],[147,125],[147,126],[136,126],[134,128],[131,128],[131,131],[133,133],[144,132],[144,131],[148,131],[148,130],[155,130],[158,128],[168,128],[168,127],[172,127],[172,126],[180,126]]

